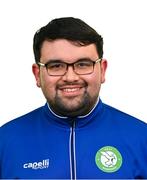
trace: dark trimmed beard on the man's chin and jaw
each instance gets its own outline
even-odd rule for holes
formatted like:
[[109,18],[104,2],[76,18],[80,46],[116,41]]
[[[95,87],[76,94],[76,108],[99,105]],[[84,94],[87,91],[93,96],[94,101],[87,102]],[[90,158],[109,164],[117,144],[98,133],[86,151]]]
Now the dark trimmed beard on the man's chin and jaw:
[[77,117],[88,114],[94,107],[97,99],[98,94],[91,97],[90,94],[85,90],[82,97],[76,102],[76,106],[72,105],[72,101],[75,99],[71,99],[71,104],[67,104],[57,93],[54,100],[48,99],[48,103],[52,111],[60,116]]

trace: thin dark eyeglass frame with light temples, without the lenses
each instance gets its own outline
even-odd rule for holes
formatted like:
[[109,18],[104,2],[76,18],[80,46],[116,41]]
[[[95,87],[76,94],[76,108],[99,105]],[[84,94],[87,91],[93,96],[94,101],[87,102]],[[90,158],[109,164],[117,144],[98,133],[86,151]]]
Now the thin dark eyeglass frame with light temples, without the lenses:
[[[95,64],[97,64],[97,63],[100,62],[101,60],[102,60],[102,58],[97,58],[97,59],[94,60],[94,61],[93,61],[93,60],[89,60],[89,61],[91,61],[91,62],[93,63],[93,71],[94,71],[94,66],[95,66]],[[78,61],[79,61],[79,60],[78,60]],[[38,62],[37,65],[38,65],[38,66],[41,66],[41,67],[45,67],[45,68],[46,68],[46,71],[47,71],[47,73],[48,73],[49,76],[64,76],[64,75],[67,73],[69,66],[72,66],[74,73],[76,73],[77,75],[87,75],[87,74],[92,74],[92,73],[93,73],[93,71],[90,72],[90,73],[84,73],[84,74],[79,74],[79,73],[77,73],[77,72],[75,71],[75,66],[74,66],[74,64],[77,63],[78,61],[73,62],[73,63],[63,62],[64,64],[66,64],[66,71],[65,71],[65,73],[62,74],[62,75],[52,75],[52,74],[49,74],[47,65],[50,63],[50,61],[48,61],[47,63]]]

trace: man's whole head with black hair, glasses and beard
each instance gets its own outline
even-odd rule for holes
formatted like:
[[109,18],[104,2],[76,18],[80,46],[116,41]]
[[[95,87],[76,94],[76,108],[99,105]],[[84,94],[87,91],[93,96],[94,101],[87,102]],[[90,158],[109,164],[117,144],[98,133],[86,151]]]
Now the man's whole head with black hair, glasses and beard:
[[51,109],[71,117],[87,114],[105,80],[102,37],[80,19],[60,18],[37,31],[33,48],[33,73]]

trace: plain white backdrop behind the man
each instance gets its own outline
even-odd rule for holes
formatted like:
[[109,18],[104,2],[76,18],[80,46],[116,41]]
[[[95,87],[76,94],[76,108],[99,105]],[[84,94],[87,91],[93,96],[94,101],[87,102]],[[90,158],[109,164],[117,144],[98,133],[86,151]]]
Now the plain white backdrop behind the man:
[[44,105],[31,66],[34,33],[50,20],[81,18],[104,38],[101,99],[147,122],[146,0],[1,0],[0,125]]

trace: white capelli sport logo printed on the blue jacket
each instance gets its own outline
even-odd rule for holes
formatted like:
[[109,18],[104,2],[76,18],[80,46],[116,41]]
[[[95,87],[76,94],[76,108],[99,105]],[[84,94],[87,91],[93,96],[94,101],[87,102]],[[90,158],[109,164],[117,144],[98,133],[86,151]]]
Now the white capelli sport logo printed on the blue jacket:
[[45,168],[48,168],[49,167],[49,159],[44,159],[40,162],[29,162],[29,163],[25,163],[23,165],[23,168],[25,169],[45,169]]

